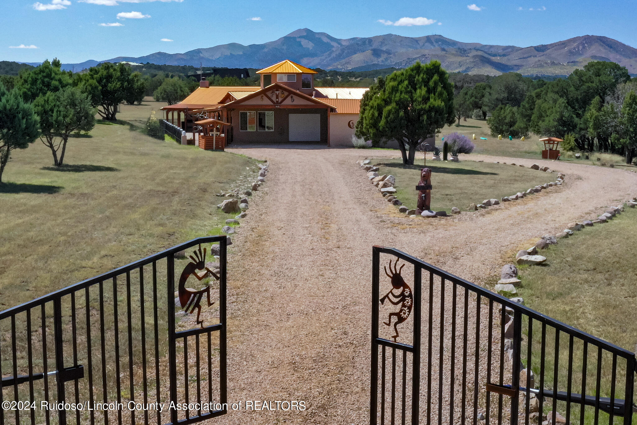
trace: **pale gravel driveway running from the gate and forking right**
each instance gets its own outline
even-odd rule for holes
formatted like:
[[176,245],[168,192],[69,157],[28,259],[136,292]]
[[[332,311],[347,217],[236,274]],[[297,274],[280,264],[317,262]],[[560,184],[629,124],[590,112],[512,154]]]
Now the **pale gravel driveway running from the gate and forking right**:
[[230,151],[267,159],[270,171],[229,254],[229,401],[301,400],[307,408],[231,411],[214,423],[369,421],[372,245],[480,283],[499,273],[506,253],[637,194],[637,174],[629,171],[471,155],[548,165],[566,173],[566,184],[489,210],[408,219],[355,164],[397,152],[292,145]]

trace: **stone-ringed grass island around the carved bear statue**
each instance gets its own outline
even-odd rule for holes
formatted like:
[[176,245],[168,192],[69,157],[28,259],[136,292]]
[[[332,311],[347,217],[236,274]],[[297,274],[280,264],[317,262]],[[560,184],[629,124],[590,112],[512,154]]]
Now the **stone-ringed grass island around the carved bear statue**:
[[[415,187],[420,180],[419,164],[404,166],[400,159],[377,159],[372,163],[380,167],[379,175],[390,174],[396,177],[396,197],[408,208],[416,208],[418,192]],[[527,166],[531,165],[526,164]],[[453,206],[462,211],[470,203],[482,203],[484,199],[500,199],[529,187],[555,180],[554,174],[534,169],[494,164],[492,162],[441,162],[427,161],[431,168],[431,209],[451,212]]]

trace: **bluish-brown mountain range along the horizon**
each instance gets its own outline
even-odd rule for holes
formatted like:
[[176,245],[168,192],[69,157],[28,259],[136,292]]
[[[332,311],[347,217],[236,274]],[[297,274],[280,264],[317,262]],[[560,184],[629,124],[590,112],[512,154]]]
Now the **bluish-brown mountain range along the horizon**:
[[[450,72],[499,75],[568,75],[590,61],[612,61],[637,74],[637,49],[604,36],[580,36],[531,47],[462,43],[440,35],[404,37],[395,34],[334,38],[325,32],[297,29],[275,41],[244,46],[229,43],[182,54],[156,52],[141,57],[120,56],[99,62],[130,61],[167,65],[264,68],[290,59],[310,68],[366,71],[404,68],[416,61],[440,61]],[[76,71],[98,61],[64,64]]]

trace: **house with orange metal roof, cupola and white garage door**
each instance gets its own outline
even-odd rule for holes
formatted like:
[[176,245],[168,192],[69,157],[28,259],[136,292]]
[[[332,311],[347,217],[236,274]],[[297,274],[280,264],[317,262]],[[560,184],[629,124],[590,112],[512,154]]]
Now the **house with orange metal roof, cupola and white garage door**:
[[[261,87],[210,87],[199,83],[181,103],[164,106],[166,120],[187,133],[197,122],[224,123],[226,144],[308,142],[351,146],[366,87],[315,87],[316,71],[282,61],[257,71]],[[223,128],[222,128],[223,127]]]

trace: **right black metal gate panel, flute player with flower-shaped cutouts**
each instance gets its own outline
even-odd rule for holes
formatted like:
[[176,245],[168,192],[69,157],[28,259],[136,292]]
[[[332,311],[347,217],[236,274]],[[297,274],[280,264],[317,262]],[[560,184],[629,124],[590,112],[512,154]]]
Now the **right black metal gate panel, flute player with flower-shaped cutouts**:
[[399,250],[372,264],[371,425],[633,423],[632,352]]

